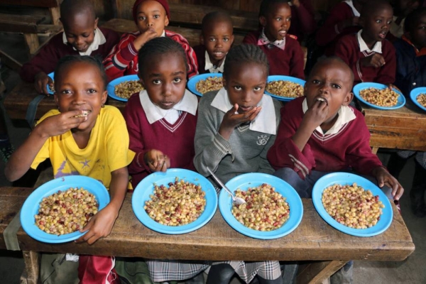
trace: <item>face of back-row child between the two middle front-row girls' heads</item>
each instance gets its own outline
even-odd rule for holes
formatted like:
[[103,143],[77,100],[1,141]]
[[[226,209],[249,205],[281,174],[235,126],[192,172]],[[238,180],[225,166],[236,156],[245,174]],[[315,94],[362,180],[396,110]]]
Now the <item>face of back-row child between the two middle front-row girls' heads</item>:
[[222,62],[232,43],[234,43],[231,23],[228,21],[211,23],[202,31],[201,43],[205,46],[210,61],[214,63]]

